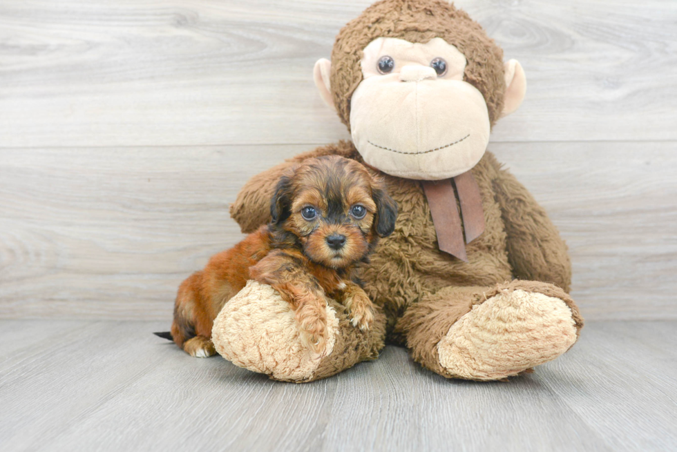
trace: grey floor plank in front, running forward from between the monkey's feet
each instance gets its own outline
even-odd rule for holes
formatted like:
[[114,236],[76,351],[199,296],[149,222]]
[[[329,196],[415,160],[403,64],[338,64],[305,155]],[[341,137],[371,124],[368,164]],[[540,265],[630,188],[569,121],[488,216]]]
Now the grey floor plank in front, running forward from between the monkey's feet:
[[560,395],[531,377],[509,384],[446,380],[396,347],[364,371],[336,376],[323,451],[611,450]]

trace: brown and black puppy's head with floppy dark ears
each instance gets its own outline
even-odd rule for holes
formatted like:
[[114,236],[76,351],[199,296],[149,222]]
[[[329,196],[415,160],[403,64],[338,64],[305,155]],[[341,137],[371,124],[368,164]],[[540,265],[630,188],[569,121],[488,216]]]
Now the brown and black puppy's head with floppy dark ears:
[[397,205],[364,166],[327,156],[308,159],[280,179],[271,215],[298,237],[309,259],[343,268],[392,233]]

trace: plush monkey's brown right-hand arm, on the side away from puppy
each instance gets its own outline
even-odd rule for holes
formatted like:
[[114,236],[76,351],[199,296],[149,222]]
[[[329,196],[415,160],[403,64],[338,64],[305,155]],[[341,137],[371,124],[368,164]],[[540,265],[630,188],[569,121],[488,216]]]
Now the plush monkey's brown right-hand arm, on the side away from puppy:
[[497,162],[496,166],[494,190],[508,235],[513,274],[519,279],[557,284],[568,293],[571,261],[564,240],[531,193]]

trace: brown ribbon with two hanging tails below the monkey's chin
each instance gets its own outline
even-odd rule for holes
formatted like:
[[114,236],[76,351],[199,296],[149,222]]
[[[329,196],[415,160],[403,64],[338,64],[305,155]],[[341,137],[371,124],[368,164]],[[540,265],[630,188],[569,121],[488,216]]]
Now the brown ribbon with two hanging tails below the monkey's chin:
[[[462,226],[452,179],[461,204]],[[473,242],[484,232],[482,197],[477,181],[470,171],[452,179],[421,181],[421,184],[428,198],[439,249],[468,262],[466,244]],[[466,232],[465,242],[463,230]]]

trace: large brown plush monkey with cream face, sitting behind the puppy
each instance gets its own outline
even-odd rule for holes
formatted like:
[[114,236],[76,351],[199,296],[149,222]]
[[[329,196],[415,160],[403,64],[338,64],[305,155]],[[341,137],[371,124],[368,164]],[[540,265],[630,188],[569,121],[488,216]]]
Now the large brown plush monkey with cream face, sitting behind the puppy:
[[479,24],[446,1],[382,0],[339,32],[314,79],[352,142],[253,177],[231,216],[245,233],[269,222],[276,181],[303,159],[336,154],[371,167],[399,206],[394,233],[363,275],[379,312],[363,332],[330,302],[327,346],[313,353],[289,306],[249,282],[214,322],[217,351],[277,380],[307,382],[375,359],[386,342],[468,380],[503,380],[569,350],[583,320],[568,295],[566,245],[486,150],[495,121],[524,98],[519,63],[504,63]]

